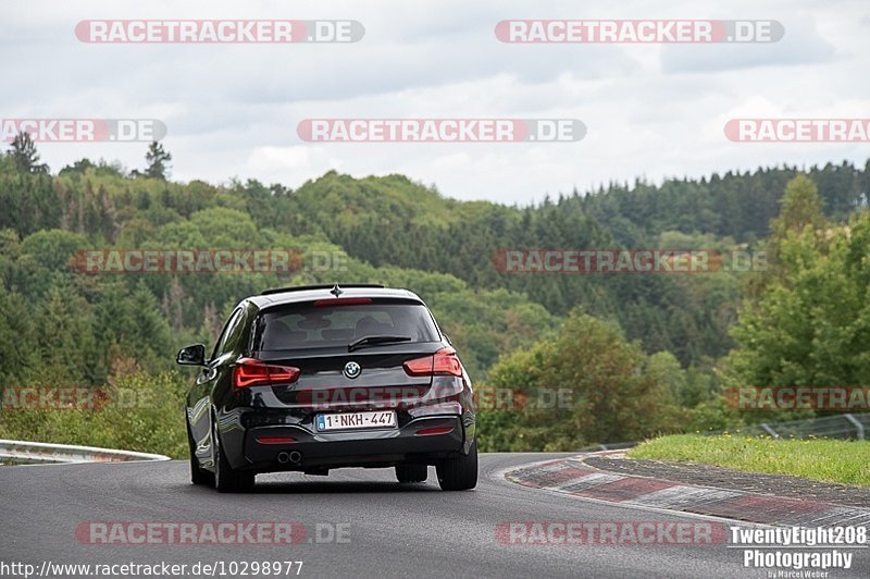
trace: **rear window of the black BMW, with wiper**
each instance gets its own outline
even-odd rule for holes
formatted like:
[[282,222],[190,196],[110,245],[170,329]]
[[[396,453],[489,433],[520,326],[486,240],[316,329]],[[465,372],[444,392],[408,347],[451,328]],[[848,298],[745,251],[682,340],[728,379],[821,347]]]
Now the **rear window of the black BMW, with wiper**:
[[372,335],[407,336],[410,340],[405,344],[439,340],[432,315],[422,304],[306,304],[261,313],[254,324],[252,349],[346,347]]

